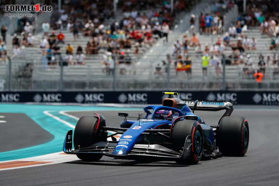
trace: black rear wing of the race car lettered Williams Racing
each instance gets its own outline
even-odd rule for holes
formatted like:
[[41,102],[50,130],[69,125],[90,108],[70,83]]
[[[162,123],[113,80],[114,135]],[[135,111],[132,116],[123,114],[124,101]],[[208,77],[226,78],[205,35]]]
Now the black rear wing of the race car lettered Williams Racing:
[[[198,101],[198,100],[182,100],[192,112],[194,111],[221,111],[226,110],[224,116],[230,116],[233,112],[233,104],[230,102],[221,102],[221,101]],[[221,119],[220,119],[221,120]]]

